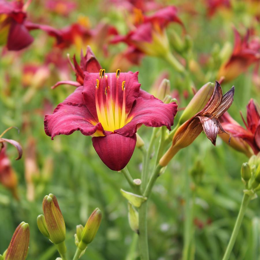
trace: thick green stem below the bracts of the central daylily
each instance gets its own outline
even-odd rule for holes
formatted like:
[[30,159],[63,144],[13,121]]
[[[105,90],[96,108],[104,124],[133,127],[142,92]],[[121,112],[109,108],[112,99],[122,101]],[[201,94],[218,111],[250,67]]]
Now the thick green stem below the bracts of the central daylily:
[[139,208],[139,250],[141,260],[149,260],[147,238],[147,201]]

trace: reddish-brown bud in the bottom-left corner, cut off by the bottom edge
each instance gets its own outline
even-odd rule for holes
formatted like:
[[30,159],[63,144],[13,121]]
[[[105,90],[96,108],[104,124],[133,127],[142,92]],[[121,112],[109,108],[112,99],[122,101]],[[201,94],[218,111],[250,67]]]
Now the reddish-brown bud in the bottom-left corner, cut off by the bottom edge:
[[14,231],[4,260],[25,260],[29,247],[30,230],[28,223],[21,222]]

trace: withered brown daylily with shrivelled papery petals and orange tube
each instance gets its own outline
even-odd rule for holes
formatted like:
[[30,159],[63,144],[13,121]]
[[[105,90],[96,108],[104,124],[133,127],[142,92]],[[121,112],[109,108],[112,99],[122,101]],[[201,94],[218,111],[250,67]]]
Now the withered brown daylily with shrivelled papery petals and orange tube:
[[171,147],[160,159],[159,163],[161,166],[166,166],[180,149],[190,145],[203,130],[212,144],[216,145],[219,130],[227,133],[221,126],[219,117],[231,106],[234,91],[235,88],[232,87],[222,96],[221,86],[216,81],[214,92],[206,106],[192,118],[184,122],[175,132]]

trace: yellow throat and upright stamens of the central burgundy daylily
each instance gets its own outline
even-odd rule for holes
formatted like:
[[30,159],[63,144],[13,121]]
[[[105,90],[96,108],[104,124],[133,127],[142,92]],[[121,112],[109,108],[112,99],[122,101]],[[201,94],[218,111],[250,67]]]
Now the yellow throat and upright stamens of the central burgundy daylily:
[[[116,82],[111,87],[108,85],[109,76],[105,75],[104,69],[100,70],[99,79],[96,80],[95,100],[98,121],[104,130],[112,132],[128,123],[126,120],[126,81],[119,84],[119,74],[120,69],[115,73]],[[112,92],[112,88],[115,91]],[[123,97],[119,91],[123,91]]]

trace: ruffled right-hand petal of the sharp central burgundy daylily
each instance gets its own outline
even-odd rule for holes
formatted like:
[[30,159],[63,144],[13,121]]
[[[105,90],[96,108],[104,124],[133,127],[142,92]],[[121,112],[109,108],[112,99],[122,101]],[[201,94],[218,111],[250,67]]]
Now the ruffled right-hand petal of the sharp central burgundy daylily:
[[139,124],[151,127],[167,126],[171,130],[176,113],[177,104],[175,102],[164,104],[152,95],[149,99],[137,98],[128,115],[128,119],[131,121],[114,132],[124,136],[132,136],[136,133]]

